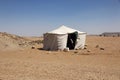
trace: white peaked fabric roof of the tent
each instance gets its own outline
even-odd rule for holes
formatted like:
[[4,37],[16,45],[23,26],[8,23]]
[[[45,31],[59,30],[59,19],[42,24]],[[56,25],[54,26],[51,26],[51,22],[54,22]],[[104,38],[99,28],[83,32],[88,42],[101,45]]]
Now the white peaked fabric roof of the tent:
[[48,33],[50,33],[50,34],[67,34],[67,33],[73,33],[75,31],[77,31],[78,33],[81,33],[81,34],[85,33],[85,32],[81,32],[81,31],[69,28],[69,27],[64,26],[64,25],[62,25],[59,28],[57,28],[57,29],[55,29],[53,31],[50,31]]

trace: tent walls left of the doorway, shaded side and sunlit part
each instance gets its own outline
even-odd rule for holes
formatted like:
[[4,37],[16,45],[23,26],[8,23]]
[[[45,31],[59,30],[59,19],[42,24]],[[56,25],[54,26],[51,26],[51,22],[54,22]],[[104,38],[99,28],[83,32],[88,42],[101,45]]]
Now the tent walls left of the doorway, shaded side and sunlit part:
[[63,50],[66,48],[67,34],[44,34],[43,49]]

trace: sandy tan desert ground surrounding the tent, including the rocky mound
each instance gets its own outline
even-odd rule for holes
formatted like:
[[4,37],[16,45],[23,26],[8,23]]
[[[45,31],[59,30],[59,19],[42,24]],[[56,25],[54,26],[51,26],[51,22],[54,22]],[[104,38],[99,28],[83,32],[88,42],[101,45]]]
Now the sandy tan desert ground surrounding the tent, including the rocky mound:
[[0,80],[120,80],[120,37],[87,36],[69,52],[42,50],[42,40],[0,32]]

